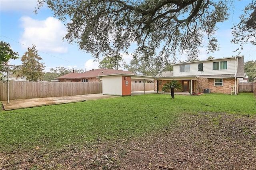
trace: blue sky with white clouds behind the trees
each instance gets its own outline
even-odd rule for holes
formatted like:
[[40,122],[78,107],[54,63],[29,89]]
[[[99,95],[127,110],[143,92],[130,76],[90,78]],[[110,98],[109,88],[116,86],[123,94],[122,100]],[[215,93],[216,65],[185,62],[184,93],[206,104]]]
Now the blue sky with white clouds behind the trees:
[[[239,45],[230,42],[232,40],[231,28],[239,22],[238,17],[249,2],[251,0],[234,1],[230,19],[218,24],[216,37],[220,50],[207,53],[206,47],[202,47],[198,56],[200,60],[207,59],[209,56],[222,58],[238,54],[233,51]],[[0,40],[10,43],[12,50],[18,52],[20,57],[34,43],[42,58],[40,62],[46,66],[45,72],[55,67],[84,69],[85,71],[97,69],[98,62],[94,61],[90,53],[81,51],[76,43],[71,45],[62,39],[66,34],[64,23],[54,18],[52,11],[45,6],[36,14],[34,12],[36,6],[36,0],[0,0]],[[128,52],[128,55],[124,55],[126,63],[130,63],[132,59],[133,51]],[[239,52],[240,55],[244,55],[244,62],[256,60],[256,47],[251,44],[244,45],[244,49]],[[185,59],[185,55],[178,55],[178,60]],[[12,59],[10,64],[21,65],[22,61]]]

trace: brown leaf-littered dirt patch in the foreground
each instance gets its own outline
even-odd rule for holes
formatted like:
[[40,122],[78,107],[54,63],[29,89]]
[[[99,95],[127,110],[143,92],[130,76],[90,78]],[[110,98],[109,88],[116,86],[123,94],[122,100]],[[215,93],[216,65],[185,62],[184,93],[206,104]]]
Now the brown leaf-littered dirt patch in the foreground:
[[66,150],[0,154],[3,169],[256,169],[256,118],[183,114],[176,125],[138,139]]

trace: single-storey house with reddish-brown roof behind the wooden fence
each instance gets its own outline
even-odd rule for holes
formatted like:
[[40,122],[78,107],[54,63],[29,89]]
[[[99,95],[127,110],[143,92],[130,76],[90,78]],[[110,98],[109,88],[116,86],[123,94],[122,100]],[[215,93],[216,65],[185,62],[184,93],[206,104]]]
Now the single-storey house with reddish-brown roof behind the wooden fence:
[[60,77],[55,78],[60,82],[100,82],[99,77],[101,75],[112,75],[112,74],[132,74],[130,71],[115,70],[115,69],[92,69],[84,73],[68,73]]

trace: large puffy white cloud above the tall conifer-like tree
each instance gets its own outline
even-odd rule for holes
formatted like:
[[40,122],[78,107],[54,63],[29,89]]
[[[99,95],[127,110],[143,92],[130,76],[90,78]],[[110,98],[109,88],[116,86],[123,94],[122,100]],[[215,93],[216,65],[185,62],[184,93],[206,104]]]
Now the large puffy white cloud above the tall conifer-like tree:
[[[24,32],[20,42],[29,47],[34,43],[38,51],[66,53],[67,44],[62,41],[66,28],[59,20],[48,17],[46,20],[34,20],[30,17],[20,18]],[[26,48],[23,46],[23,48]]]

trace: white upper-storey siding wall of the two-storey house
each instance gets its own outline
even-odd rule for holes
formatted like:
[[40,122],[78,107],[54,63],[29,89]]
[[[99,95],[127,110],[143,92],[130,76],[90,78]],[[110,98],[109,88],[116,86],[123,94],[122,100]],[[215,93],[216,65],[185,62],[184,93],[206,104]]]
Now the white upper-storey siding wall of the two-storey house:
[[[227,69],[212,70],[212,63],[219,61],[227,61]],[[173,76],[189,76],[189,75],[220,75],[220,74],[234,74],[237,73],[237,62],[232,59],[220,59],[214,61],[203,61],[204,70],[198,71],[198,63],[190,63],[190,71],[180,73],[180,65],[173,66]],[[186,65],[186,63],[184,63]]]

